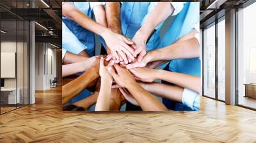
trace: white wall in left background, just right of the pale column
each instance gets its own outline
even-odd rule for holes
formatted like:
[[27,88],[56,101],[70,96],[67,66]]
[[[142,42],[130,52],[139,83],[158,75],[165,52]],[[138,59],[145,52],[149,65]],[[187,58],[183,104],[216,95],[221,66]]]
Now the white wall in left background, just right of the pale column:
[[56,77],[56,49],[49,43],[36,43],[35,47],[35,89],[49,89],[50,80]]

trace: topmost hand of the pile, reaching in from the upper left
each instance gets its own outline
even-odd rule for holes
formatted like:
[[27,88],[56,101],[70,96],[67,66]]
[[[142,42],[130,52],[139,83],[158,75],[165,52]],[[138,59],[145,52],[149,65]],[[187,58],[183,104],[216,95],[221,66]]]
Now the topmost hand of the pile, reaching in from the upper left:
[[111,50],[111,54],[115,57],[114,59],[123,60],[127,64],[127,57],[130,57],[131,59],[136,57],[134,49],[130,46],[133,44],[133,41],[129,38],[126,38],[122,34],[113,33],[110,30],[102,34],[102,37]]

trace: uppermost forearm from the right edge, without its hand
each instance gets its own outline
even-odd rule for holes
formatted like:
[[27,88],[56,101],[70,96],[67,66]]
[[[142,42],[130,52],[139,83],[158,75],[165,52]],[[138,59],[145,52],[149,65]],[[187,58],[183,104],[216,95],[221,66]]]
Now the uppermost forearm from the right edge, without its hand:
[[196,38],[190,38],[188,40],[174,43],[162,49],[150,51],[148,54],[151,57],[150,61],[189,59],[200,56],[200,47]]

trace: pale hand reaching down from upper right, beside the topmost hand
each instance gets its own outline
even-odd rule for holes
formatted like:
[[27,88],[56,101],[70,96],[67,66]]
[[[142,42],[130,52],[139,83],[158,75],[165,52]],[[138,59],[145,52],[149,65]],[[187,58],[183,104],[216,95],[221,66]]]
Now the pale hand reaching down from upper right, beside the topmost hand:
[[137,57],[138,62],[141,62],[143,57],[147,54],[146,51],[146,42],[147,40],[144,38],[144,35],[140,33],[140,31],[137,31],[136,34],[133,36],[132,41],[136,45],[135,54]]

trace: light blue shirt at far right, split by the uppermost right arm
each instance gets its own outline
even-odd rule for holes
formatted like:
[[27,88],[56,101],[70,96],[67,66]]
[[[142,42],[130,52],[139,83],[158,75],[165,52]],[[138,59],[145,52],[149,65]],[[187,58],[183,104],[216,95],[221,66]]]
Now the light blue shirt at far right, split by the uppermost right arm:
[[[171,45],[180,37],[191,32],[199,21],[199,3],[185,3],[184,8],[173,20],[170,28],[164,34],[160,47]],[[175,59],[170,62],[169,70],[200,77],[200,59]]]

